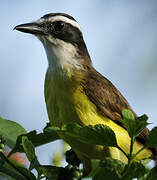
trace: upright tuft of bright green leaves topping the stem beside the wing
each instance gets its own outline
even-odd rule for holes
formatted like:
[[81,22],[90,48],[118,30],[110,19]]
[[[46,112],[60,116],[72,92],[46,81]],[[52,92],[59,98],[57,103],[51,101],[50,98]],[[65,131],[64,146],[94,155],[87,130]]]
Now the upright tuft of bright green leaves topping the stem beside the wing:
[[148,125],[147,115],[142,115],[140,117],[135,118],[133,113],[130,110],[124,109],[122,111],[123,120],[128,134],[131,138],[137,137],[140,132]]

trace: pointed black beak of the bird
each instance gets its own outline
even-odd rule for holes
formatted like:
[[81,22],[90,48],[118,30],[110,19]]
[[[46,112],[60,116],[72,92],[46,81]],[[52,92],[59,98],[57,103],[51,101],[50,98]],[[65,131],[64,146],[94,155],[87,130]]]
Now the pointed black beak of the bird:
[[21,32],[34,34],[34,35],[44,34],[44,30],[42,26],[37,22],[20,24],[20,25],[15,26],[14,29]]

